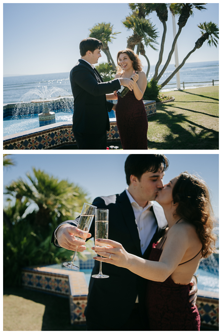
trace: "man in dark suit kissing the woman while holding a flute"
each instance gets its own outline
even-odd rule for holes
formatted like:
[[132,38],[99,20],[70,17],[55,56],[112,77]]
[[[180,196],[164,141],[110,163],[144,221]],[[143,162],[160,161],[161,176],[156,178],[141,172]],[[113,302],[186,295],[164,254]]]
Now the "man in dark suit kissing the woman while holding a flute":
[[[120,242],[127,252],[148,259],[152,243],[164,233],[167,221],[163,209],[154,205],[168,161],[161,154],[130,154],[125,162],[128,189],[121,194],[97,197],[93,205],[109,209],[109,238]],[[73,233],[80,235],[76,220],[67,220],[54,231],[52,242],[67,249],[85,247]],[[72,226],[73,225],[73,226]],[[90,233],[94,235],[95,219]],[[89,234],[88,237],[91,237]],[[78,241],[78,242],[77,242]],[[95,261],[92,274],[99,273]],[[91,277],[85,310],[88,330],[147,330],[145,316],[146,280],[125,268],[103,263],[108,279]],[[195,294],[197,286],[193,278]],[[191,297],[194,300],[196,295]]]

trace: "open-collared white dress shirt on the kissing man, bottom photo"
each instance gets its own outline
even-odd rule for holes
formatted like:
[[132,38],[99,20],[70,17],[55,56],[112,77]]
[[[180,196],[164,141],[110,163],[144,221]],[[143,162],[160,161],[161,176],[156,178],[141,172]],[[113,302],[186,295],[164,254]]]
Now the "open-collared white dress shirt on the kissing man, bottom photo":
[[139,231],[141,252],[142,254],[144,254],[157,227],[154,214],[152,211],[150,211],[150,207],[153,205],[153,202],[149,201],[147,205],[144,208],[142,208],[136,203],[136,201],[130,195],[128,189],[126,189],[126,194],[132,205],[132,209],[136,218],[135,220]]

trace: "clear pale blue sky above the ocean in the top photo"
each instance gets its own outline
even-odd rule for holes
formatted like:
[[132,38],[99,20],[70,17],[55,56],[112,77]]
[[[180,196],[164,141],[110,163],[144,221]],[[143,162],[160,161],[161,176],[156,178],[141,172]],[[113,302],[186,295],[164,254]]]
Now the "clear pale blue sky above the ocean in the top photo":
[[[179,62],[193,49],[200,37],[197,24],[212,21],[219,25],[219,4],[206,4],[207,10],[194,10],[178,39]],[[70,72],[80,57],[79,43],[88,37],[96,23],[111,22],[114,32],[121,32],[110,44],[113,59],[126,47],[127,36],[132,34],[121,23],[130,13],[128,3],[4,3],[4,75],[27,75]],[[150,15],[162,37],[162,23],[155,13]],[[178,25],[177,29],[178,29]],[[168,15],[167,35],[162,63],[165,63],[173,41],[172,18]],[[207,42],[197,49],[187,62],[219,59],[219,50],[209,48]],[[156,64],[158,52],[146,48],[150,64]],[[140,56],[144,66],[147,65]],[[107,61],[102,52],[100,62]],[[114,60],[115,61],[115,60]],[[174,55],[171,58],[174,63]]]

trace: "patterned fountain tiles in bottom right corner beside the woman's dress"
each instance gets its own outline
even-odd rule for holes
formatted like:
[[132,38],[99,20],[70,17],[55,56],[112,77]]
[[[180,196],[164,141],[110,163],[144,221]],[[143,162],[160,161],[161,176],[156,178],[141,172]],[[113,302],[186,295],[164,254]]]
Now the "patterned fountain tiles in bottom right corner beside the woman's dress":
[[198,296],[196,306],[201,325],[207,325],[214,330],[219,327],[219,299]]

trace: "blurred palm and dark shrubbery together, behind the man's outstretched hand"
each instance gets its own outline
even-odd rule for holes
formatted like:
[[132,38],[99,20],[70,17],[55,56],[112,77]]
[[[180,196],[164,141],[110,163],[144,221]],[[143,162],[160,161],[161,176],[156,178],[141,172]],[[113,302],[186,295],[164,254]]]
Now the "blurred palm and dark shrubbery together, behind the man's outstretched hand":
[[[81,187],[35,168],[33,174],[27,173],[31,185],[20,178],[6,187],[10,198],[3,210],[3,277],[8,286],[21,284],[23,267],[70,261],[73,251],[54,246],[51,236],[59,223],[75,219],[89,202]],[[92,241],[86,246],[92,251]],[[85,259],[84,252],[78,255]]]

